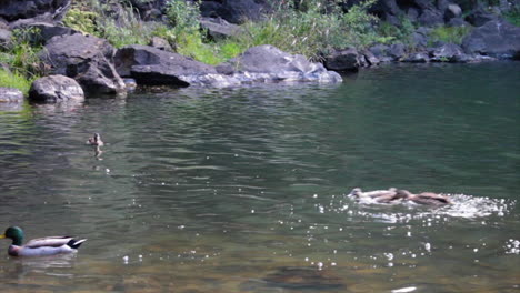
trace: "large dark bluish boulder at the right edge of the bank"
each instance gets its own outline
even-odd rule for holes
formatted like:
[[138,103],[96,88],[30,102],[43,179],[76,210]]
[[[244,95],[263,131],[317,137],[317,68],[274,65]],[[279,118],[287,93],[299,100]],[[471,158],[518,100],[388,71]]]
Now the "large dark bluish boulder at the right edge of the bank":
[[504,20],[488,21],[462,40],[462,48],[469,54],[512,59],[520,52],[520,27]]

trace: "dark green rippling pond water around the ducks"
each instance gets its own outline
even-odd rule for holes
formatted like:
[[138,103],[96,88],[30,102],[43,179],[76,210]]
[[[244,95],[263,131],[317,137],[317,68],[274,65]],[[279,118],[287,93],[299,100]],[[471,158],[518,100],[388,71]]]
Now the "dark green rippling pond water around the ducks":
[[[1,113],[2,226],[88,241],[14,259],[2,240],[0,291],[519,292],[519,77],[392,65]],[[363,204],[357,186],[454,204]]]

